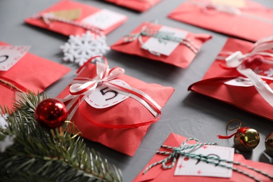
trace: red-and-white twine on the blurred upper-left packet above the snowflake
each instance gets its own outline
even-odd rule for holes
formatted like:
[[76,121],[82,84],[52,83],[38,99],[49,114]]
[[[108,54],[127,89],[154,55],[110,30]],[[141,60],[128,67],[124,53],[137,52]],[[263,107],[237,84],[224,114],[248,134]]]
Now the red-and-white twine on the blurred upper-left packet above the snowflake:
[[31,18],[34,18],[34,19],[41,18],[43,20],[43,22],[45,22],[45,24],[48,26],[51,26],[52,21],[57,21],[57,22],[63,22],[63,23],[69,24],[69,25],[73,25],[76,27],[81,27],[83,29],[92,31],[94,34],[97,34],[99,36],[104,35],[102,33],[102,29],[99,29],[98,27],[93,27],[93,26],[87,25],[83,22],[76,22],[73,20],[67,20],[65,18],[59,18],[59,17],[55,16],[53,13],[41,13],[38,15],[34,15]]

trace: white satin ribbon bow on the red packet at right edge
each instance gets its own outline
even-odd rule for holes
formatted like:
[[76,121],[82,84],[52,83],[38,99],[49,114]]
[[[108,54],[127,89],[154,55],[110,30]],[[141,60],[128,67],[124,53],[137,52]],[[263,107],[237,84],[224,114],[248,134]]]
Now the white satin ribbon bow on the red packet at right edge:
[[[271,106],[273,106],[273,90],[267,83],[265,83],[262,78],[266,78],[267,80],[273,80],[271,77],[267,76],[258,76],[254,71],[248,69],[244,66],[243,62],[246,57],[251,57],[253,55],[262,55],[273,58],[273,53],[266,52],[267,50],[273,49],[273,36],[269,36],[267,38],[262,38],[258,40],[254,45],[251,51],[246,54],[242,54],[240,51],[233,52],[221,52],[223,55],[229,55],[226,58],[225,56],[219,56],[218,59],[225,59],[226,66],[230,68],[236,68],[239,73],[246,76],[251,80],[256,90],[260,93],[260,95],[268,102]],[[273,64],[272,60],[263,60],[264,63]]]

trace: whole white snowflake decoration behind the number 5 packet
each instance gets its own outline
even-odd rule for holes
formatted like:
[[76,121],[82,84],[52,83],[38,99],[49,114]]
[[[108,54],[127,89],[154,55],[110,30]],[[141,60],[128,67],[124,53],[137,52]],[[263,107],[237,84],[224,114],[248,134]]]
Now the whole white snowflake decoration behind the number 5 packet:
[[[93,34],[91,31],[86,31],[81,36],[69,36],[69,40],[61,45],[64,52],[64,61],[76,62],[82,66],[87,59],[97,55],[103,55],[107,50],[110,50],[106,44],[106,36]],[[98,59],[94,59],[93,62]]]

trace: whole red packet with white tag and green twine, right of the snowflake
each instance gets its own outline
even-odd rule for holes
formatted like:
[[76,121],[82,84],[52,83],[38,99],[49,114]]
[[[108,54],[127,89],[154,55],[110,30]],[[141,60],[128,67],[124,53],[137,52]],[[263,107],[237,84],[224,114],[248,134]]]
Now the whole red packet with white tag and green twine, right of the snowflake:
[[193,34],[182,29],[144,22],[111,45],[111,49],[186,68],[202,44],[210,38],[209,34]]

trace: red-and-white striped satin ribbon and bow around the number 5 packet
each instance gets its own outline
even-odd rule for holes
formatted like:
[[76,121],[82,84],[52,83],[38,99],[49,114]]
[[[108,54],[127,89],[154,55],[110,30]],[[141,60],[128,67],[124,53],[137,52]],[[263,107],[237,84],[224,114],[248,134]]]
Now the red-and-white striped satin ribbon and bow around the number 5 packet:
[[[85,66],[87,64],[90,64],[89,62],[92,59],[95,59],[97,57],[102,56],[96,56],[92,57],[91,59],[87,60],[83,66],[80,66],[77,73],[80,73],[83,69],[85,69]],[[131,87],[123,87],[120,85],[116,85],[114,83],[111,83],[111,80],[114,80],[118,78],[118,76],[121,76],[123,73],[125,73],[125,70],[120,67],[114,67],[112,69],[109,69],[109,65],[107,62],[107,59],[104,57],[104,63],[97,62],[97,76],[94,78],[82,78],[77,77],[71,82],[71,86],[69,88],[69,95],[64,97],[64,99],[61,99],[62,102],[68,102],[66,105],[66,109],[69,112],[69,117],[73,117],[76,110],[79,108],[80,104],[83,102],[83,100],[91,94],[94,89],[101,84],[107,85],[111,90],[116,90],[122,94],[125,94],[129,97],[132,97],[133,99],[136,99],[139,103],[143,104],[148,111],[150,111],[155,118],[158,118],[161,114],[161,107],[160,105],[155,102],[148,94],[145,92],[142,92],[141,90],[138,90],[137,88]],[[82,112],[83,113],[83,112]],[[85,116],[84,116],[85,117]],[[87,118],[87,120],[89,120]],[[99,123],[94,123],[91,120],[89,120],[94,125],[99,125],[101,127],[111,127],[111,128],[128,128],[128,127],[137,127],[137,124],[134,125],[104,125]],[[142,123],[142,125],[148,125],[150,123],[154,123],[153,121],[148,121],[147,123]]]

